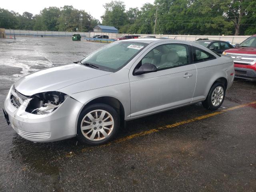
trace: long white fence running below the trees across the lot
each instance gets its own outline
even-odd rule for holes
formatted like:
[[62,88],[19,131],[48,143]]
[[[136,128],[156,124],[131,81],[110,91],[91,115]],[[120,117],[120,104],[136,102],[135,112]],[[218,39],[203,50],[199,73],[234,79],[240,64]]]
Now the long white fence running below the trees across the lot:
[[[49,37],[69,37],[73,34],[80,34],[84,38],[90,38],[94,35],[101,34],[101,35],[108,35],[110,39],[119,38],[122,35],[120,33],[101,33],[101,32],[61,32],[61,31],[30,31],[30,30],[12,30],[6,29],[5,30],[6,37],[8,36],[49,36]],[[223,40],[228,41],[231,44],[241,43],[242,41],[246,40],[246,38],[250,36],[210,36],[210,35],[152,35],[152,34],[136,34],[140,35],[140,38],[146,36],[156,36],[156,38],[170,38],[170,39],[177,39],[177,40],[186,40],[186,41],[195,41],[199,38],[208,38],[210,40]]]

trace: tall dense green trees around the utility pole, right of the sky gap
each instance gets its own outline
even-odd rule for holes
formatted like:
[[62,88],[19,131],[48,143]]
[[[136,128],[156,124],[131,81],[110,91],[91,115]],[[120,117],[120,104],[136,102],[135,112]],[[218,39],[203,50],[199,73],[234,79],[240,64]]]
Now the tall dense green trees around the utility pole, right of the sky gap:
[[146,3],[140,10],[130,8],[128,11],[124,2],[112,1],[104,6],[102,23],[116,26],[121,33],[152,34],[157,6],[156,34],[256,33],[255,0],[155,0],[154,4]]

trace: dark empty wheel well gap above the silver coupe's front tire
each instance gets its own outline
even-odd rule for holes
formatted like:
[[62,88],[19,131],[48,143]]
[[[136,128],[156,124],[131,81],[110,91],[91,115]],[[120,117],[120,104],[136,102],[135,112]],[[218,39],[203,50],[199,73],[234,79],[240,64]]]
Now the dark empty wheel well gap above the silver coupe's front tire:
[[99,98],[96,98],[96,99],[88,102],[88,104],[86,104],[84,106],[84,108],[86,108],[87,106],[89,106],[91,104],[95,104],[95,103],[104,103],[104,104],[112,106],[120,115],[120,125],[123,126],[123,124],[124,124],[124,106],[118,99],[116,99],[114,97],[109,97],[109,96],[99,97]]

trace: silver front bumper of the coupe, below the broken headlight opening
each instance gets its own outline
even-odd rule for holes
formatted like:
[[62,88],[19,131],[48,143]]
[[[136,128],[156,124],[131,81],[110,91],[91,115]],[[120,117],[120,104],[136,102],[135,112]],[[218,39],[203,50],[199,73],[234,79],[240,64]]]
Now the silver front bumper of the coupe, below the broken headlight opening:
[[33,142],[51,142],[76,136],[76,122],[82,103],[68,97],[49,114],[31,114],[25,111],[30,99],[16,108],[10,101],[10,92],[4,101],[4,110],[10,125],[20,136]]

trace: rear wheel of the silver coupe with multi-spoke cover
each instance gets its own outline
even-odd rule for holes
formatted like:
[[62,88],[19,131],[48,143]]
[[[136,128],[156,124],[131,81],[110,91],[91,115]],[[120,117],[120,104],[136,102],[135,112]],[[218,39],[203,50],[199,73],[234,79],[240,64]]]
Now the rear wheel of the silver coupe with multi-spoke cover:
[[202,105],[206,109],[216,110],[222,105],[225,94],[225,86],[222,83],[214,83],[206,97],[206,100],[202,102]]

